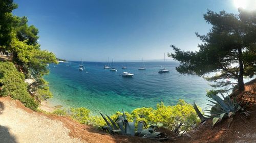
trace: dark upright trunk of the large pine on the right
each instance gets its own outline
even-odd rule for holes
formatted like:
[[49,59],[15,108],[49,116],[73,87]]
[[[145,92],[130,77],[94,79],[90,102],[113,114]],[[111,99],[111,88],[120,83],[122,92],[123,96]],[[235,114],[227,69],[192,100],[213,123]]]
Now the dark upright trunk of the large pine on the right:
[[238,77],[238,90],[244,91],[244,65],[242,60],[242,48],[238,49],[239,53],[239,77]]

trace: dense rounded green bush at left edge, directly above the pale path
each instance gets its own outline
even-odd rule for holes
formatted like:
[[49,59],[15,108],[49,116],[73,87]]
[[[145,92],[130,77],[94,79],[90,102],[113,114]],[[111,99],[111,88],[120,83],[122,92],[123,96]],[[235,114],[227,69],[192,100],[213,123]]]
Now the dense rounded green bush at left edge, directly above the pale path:
[[13,63],[0,62],[0,96],[11,96],[24,103],[26,107],[36,110],[38,103],[27,91],[24,74],[17,71]]

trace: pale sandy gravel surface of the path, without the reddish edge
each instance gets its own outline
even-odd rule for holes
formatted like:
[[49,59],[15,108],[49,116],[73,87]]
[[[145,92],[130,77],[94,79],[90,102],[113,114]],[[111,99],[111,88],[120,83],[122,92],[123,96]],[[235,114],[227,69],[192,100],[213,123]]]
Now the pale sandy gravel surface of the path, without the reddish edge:
[[0,98],[0,142],[86,142],[69,136],[57,120],[17,107],[17,101]]

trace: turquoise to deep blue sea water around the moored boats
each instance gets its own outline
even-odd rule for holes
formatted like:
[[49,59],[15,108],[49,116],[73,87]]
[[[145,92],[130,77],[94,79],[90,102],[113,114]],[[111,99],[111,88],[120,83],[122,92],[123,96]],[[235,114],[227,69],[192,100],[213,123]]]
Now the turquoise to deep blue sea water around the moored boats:
[[[159,74],[164,63],[145,63],[146,70],[140,71],[142,63],[114,63],[117,72],[104,70],[105,63],[84,62],[86,69],[78,70],[79,62],[50,65],[50,74],[44,78],[49,82],[54,97],[52,105],[64,107],[86,107],[93,113],[114,113],[124,109],[132,111],[138,107],[155,107],[163,101],[175,105],[179,99],[188,103],[195,100],[206,107],[206,90],[209,82],[196,75],[179,74],[175,67],[179,63],[165,63],[169,73]],[[127,70],[122,70],[126,65]],[[134,74],[127,78],[119,76],[123,71]],[[154,73],[156,72],[156,73]]]

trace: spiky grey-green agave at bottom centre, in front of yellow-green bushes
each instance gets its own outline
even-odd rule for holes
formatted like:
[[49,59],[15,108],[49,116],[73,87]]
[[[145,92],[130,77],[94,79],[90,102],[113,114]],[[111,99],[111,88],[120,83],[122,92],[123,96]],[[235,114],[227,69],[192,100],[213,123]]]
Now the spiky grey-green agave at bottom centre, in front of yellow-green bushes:
[[[122,111],[123,112],[123,111]],[[156,140],[165,140],[169,137],[165,137],[164,133],[157,132],[156,126],[151,125],[150,127],[147,127],[146,123],[144,121],[139,121],[137,125],[137,131],[135,131],[135,120],[133,122],[128,122],[126,119],[126,116],[123,112],[122,116],[119,116],[115,121],[113,121],[108,115],[106,117],[109,119],[109,121],[105,118],[105,116],[102,115],[100,112],[100,115],[106,122],[106,126],[102,127],[103,130],[108,131],[110,134],[119,134],[119,135],[130,135],[130,136],[139,136],[143,138],[151,138]]]

